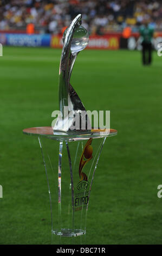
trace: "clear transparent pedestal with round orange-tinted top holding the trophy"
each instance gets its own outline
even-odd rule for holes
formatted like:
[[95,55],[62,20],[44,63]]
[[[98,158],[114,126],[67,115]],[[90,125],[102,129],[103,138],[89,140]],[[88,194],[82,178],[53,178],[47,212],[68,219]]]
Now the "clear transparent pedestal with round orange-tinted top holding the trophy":
[[40,143],[49,190],[52,243],[85,244],[95,170],[106,138],[115,136],[117,131],[92,130],[71,135],[54,134],[52,127],[34,127],[23,133],[37,136]]

